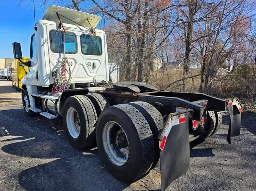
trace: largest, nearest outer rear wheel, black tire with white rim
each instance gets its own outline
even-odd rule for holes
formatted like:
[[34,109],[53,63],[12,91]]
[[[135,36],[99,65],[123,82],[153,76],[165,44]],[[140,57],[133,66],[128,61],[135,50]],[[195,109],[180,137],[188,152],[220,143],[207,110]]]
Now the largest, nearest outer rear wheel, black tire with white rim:
[[[126,139],[119,139],[119,135]],[[97,121],[96,139],[102,163],[116,179],[131,182],[151,168],[154,138],[147,120],[135,107],[120,104],[104,109]],[[126,156],[120,154],[124,149],[129,151]]]

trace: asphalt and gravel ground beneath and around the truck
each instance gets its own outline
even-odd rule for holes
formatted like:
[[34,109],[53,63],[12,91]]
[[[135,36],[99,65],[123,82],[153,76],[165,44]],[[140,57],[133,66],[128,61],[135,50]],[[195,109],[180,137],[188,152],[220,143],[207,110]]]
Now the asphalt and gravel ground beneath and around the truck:
[[[27,117],[21,95],[0,79],[0,190],[158,190],[160,168],[132,184],[102,167],[97,149],[77,151],[67,142],[62,119]],[[190,150],[190,168],[168,188],[256,190],[256,119],[242,119],[241,135],[226,142],[221,129]]]

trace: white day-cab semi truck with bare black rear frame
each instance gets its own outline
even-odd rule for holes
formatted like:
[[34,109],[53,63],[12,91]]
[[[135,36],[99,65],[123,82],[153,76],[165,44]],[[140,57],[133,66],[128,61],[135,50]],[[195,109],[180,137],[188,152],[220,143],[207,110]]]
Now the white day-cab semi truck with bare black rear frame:
[[[100,17],[50,6],[30,38],[30,60],[22,79],[22,102],[28,117],[63,117],[76,149],[97,143],[102,162],[124,182],[140,178],[160,164],[161,189],[189,167],[189,143],[217,132],[222,111],[231,117],[228,142],[240,134],[242,106],[237,98],[158,90],[138,82],[109,80],[105,32],[94,29]],[[160,162],[159,162],[160,160]]]

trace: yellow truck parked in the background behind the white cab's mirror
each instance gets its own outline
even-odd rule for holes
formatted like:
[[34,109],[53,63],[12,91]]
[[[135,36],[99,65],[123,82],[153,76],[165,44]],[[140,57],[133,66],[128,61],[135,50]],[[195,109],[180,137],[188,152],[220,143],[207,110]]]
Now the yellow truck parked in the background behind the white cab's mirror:
[[[27,62],[29,58],[22,58],[21,60],[23,62]],[[24,66],[23,68],[19,65],[19,62],[20,61],[16,59],[16,62],[13,62],[11,69],[11,79],[13,86],[16,88],[16,90],[19,90],[21,88],[22,78],[24,77],[26,72],[28,72],[28,66]]]

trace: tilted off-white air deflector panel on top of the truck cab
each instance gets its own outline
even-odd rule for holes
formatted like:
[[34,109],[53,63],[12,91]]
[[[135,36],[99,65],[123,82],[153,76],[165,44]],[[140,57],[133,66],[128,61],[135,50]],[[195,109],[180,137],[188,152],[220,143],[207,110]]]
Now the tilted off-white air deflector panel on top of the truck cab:
[[[57,17],[56,12],[58,12],[58,14],[60,14],[60,18],[63,23],[67,23],[67,24],[71,24],[71,25],[77,25],[76,23],[78,23],[79,25],[82,25],[84,27],[91,28],[91,26],[92,26],[93,28],[95,28],[97,26],[97,24],[99,23],[99,21],[101,20],[101,17],[96,16],[96,15],[92,15],[92,14],[89,14],[86,12],[76,11],[76,10],[68,9],[68,8],[64,8],[64,7],[59,7],[59,6],[55,6],[55,5],[49,6],[49,8],[47,9],[47,11],[44,14],[42,19],[57,22],[59,19]],[[69,18],[70,20],[62,17],[61,15]],[[88,23],[87,19],[89,20],[91,26]],[[71,20],[76,23],[72,22]]]

